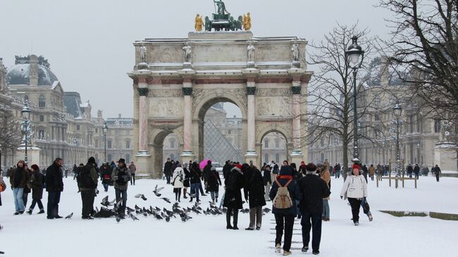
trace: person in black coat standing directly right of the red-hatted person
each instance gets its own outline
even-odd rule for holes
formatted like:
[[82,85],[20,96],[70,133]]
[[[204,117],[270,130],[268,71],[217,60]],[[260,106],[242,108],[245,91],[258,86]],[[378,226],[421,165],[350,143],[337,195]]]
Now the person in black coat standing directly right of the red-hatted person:
[[[249,226],[245,230],[261,230],[262,206],[266,205],[264,199],[264,179],[261,171],[253,165],[252,175],[247,177],[247,186],[244,187],[245,199],[249,203]],[[270,177],[270,175],[269,175]],[[256,227],[254,227],[256,225]]]

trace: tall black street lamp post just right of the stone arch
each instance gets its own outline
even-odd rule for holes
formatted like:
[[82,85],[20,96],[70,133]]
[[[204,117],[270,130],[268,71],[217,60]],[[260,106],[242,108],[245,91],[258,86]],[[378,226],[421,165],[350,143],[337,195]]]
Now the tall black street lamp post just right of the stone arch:
[[352,37],[352,44],[345,51],[345,59],[349,59],[349,68],[353,70],[353,162],[359,162],[358,151],[358,117],[357,117],[357,72],[364,59],[364,51],[358,45],[358,37]]

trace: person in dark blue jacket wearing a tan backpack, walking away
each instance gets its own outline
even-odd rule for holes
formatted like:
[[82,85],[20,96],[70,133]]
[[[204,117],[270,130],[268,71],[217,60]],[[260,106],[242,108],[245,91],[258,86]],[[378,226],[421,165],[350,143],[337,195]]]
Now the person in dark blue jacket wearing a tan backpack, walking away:
[[275,215],[276,220],[275,251],[276,253],[280,253],[281,239],[283,237],[283,230],[285,230],[283,244],[284,256],[291,254],[292,229],[297,216],[296,200],[300,201],[302,199],[299,186],[293,180],[292,176],[292,168],[289,165],[283,165],[280,168],[280,175],[273,182],[271,192],[269,193],[269,197],[273,203],[272,213]]

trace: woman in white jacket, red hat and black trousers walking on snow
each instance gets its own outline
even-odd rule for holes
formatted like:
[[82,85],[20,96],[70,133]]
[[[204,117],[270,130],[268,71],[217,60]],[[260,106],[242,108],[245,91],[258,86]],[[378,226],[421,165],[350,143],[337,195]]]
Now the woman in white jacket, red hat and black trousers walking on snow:
[[359,206],[364,197],[367,197],[367,182],[364,177],[359,174],[359,165],[354,164],[352,167],[352,175],[347,177],[340,192],[341,199],[348,199],[352,206],[352,215],[354,225],[359,225]]

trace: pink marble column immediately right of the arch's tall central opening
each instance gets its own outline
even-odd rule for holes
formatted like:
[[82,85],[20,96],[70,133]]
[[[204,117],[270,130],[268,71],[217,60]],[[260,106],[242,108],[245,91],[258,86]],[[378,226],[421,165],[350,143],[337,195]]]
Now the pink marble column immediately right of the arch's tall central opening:
[[249,79],[247,81],[247,154],[256,154],[255,142],[255,131],[256,127],[254,124],[254,113],[256,109],[256,103],[254,99],[254,94],[256,92],[256,83],[254,80]]

